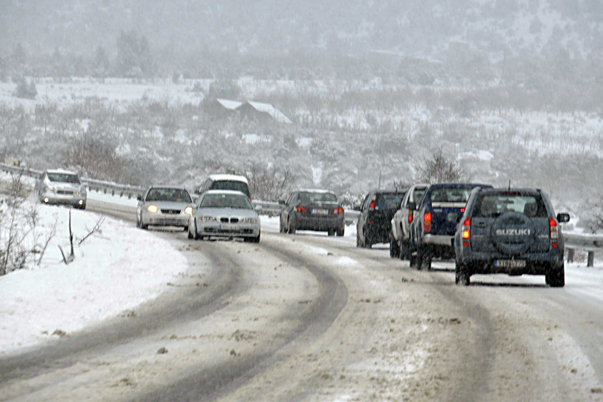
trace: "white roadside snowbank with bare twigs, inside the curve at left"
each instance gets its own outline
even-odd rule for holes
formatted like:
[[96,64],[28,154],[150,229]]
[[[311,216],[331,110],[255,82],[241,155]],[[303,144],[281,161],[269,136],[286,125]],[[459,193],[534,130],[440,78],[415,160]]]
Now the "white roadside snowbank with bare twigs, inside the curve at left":
[[[101,237],[76,246],[74,262],[65,265],[58,245],[69,253],[69,210],[40,205],[38,233],[45,236],[57,222],[42,263],[0,277],[0,356],[133,309],[157,297],[186,269],[185,257],[169,242],[110,218],[101,226]],[[71,213],[79,239],[100,217]]]

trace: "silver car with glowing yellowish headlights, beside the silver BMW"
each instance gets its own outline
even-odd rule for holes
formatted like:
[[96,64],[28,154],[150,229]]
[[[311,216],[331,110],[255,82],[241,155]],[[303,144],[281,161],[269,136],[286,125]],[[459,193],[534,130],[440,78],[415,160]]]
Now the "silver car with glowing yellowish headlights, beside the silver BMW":
[[180,186],[150,186],[138,197],[136,225],[141,229],[153,226],[180,226],[188,229],[192,199]]

